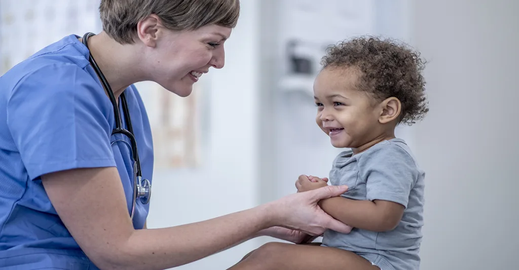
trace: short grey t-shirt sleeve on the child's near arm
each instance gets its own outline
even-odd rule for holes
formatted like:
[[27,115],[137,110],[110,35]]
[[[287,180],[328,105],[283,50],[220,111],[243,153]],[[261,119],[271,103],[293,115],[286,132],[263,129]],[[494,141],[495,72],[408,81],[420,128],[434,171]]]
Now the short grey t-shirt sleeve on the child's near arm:
[[418,169],[415,161],[402,147],[389,145],[377,147],[363,155],[362,162],[366,177],[366,199],[395,202],[407,208],[409,193],[416,179]]

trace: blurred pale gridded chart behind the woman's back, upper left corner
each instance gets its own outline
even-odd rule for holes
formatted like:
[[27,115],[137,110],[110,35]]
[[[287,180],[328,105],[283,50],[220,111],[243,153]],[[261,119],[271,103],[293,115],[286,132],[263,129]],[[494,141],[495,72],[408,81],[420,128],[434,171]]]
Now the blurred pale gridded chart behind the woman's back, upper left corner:
[[92,0],[0,1],[0,74],[67,35],[99,32],[98,5]]

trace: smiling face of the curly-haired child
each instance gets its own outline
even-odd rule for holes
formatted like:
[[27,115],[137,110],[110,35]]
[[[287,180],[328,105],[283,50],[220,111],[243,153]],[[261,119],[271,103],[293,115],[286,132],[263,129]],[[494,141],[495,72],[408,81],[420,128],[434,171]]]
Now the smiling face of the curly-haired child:
[[356,89],[357,78],[351,68],[325,68],[313,84],[316,122],[337,148],[359,148],[380,132],[377,106]]

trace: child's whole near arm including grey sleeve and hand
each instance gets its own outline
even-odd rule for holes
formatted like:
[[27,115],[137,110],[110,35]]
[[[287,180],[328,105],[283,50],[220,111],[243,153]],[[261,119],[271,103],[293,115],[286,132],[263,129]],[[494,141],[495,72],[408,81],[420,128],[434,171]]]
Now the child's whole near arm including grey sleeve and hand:
[[[320,206],[327,214],[354,228],[369,231],[391,231],[399,224],[419,172],[409,153],[398,145],[387,144],[372,149],[358,160],[359,177],[366,179],[366,200],[345,197],[323,200]],[[300,177],[298,181],[301,182],[296,184],[298,190],[326,185],[320,179],[312,182]]]

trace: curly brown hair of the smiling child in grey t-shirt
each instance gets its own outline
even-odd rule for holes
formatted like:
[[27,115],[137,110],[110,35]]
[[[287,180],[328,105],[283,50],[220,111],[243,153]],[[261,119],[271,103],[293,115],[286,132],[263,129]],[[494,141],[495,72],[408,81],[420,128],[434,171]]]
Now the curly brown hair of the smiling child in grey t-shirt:
[[420,53],[404,44],[376,37],[357,37],[327,48],[321,64],[326,67],[354,67],[361,73],[356,87],[382,101],[396,97],[402,103],[400,123],[412,125],[429,111],[425,61]]

